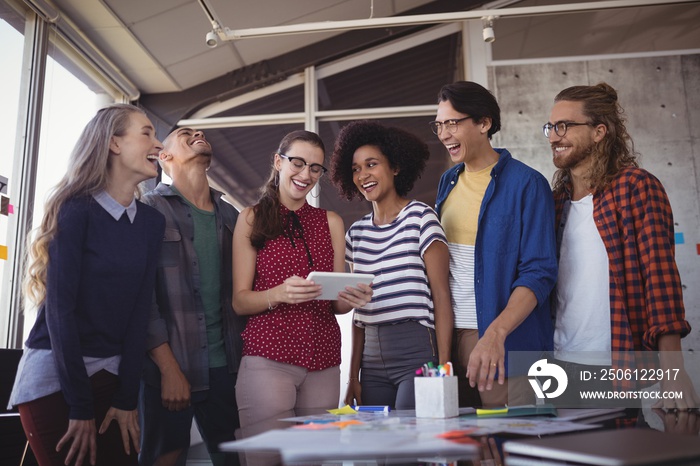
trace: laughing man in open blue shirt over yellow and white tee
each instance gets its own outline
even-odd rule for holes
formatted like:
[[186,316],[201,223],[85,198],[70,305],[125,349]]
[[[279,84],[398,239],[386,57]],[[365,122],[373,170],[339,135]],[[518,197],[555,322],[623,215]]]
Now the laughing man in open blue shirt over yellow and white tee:
[[528,402],[534,394],[524,377],[509,397],[507,353],[552,348],[549,294],[557,261],[551,189],[540,173],[491,147],[500,108],[479,84],[443,86],[430,126],[455,163],[440,179],[436,211],[450,249],[460,404]]

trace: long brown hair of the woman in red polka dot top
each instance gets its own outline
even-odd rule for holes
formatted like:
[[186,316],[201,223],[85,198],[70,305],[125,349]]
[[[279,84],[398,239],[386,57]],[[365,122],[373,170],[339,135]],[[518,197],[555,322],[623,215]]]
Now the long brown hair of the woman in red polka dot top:
[[[279,148],[275,153],[286,154],[292,144],[297,141],[307,142],[320,148],[324,155],[326,153],[326,147],[319,135],[305,130],[292,131],[287,134],[280,141]],[[254,218],[253,228],[250,233],[250,244],[257,250],[262,249],[267,240],[277,238],[284,232],[284,225],[279,214],[279,172],[275,168],[274,160],[273,154],[270,176],[260,189],[258,203],[253,206]]]

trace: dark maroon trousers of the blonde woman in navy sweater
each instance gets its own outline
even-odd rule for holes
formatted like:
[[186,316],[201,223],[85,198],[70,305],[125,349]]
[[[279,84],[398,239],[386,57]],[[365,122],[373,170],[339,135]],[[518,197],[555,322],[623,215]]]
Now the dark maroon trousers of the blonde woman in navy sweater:
[[[90,377],[92,386],[95,430],[99,430],[109,410],[114,392],[119,386],[116,375],[101,370]],[[70,442],[60,452],[56,445],[68,430],[69,407],[62,392],[57,392],[18,406],[22,427],[29,439],[32,452],[41,466],[62,466],[70,450]],[[121,432],[112,421],[104,434],[97,434],[97,464],[102,466],[137,465],[136,448],[131,444],[131,455],[124,451]],[[84,465],[90,464],[86,457]],[[73,463],[75,456],[73,457]]]

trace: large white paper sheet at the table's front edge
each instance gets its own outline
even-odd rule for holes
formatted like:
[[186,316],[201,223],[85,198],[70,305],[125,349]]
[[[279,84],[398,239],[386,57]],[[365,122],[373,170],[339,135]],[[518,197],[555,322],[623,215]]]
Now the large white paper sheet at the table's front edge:
[[472,458],[479,452],[477,445],[450,442],[434,433],[352,429],[271,430],[248,439],[222,443],[220,448],[222,451],[277,450],[285,462],[450,455]]

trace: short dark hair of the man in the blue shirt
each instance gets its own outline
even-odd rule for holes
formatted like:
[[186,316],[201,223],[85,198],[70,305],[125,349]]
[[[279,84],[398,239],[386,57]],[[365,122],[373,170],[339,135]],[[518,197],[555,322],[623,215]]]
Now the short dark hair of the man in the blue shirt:
[[496,134],[501,129],[501,108],[496,98],[481,84],[471,81],[457,81],[445,84],[438,92],[438,101],[449,102],[459,113],[472,117],[475,123],[484,118],[491,119],[491,128],[488,137]]

